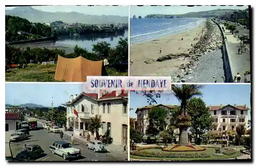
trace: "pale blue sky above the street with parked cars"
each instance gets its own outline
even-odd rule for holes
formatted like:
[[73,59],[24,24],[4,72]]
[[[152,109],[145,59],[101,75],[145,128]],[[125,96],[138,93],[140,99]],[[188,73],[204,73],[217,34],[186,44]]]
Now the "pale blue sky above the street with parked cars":
[[83,84],[59,83],[6,83],[6,104],[20,105],[26,103],[57,107],[70,100],[70,95],[80,94],[86,90]]

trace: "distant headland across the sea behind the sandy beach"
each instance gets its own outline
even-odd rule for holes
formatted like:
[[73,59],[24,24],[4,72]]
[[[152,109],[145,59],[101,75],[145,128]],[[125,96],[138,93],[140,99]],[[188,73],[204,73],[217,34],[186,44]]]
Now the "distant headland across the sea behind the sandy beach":
[[236,10],[232,9],[217,9],[201,12],[190,12],[186,14],[150,14],[146,15],[145,18],[206,18],[206,17],[216,17],[218,15],[223,15],[226,13],[233,13]]

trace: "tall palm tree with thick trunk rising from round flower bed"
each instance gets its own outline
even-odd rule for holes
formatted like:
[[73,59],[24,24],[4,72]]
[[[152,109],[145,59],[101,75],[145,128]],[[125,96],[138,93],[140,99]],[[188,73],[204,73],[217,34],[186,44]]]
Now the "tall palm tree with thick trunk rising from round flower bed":
[[178,117],[178,123],[180,128],[180,145],[188,144],[188,127],[191,125],[191,116],[187,114],[187,101],[195,96],[202,95],[202,92],[199,89],[202,88],[202,85],[182,85],[176,86],[172,85],[172,89],[175,97],[181,103],[181,114]]

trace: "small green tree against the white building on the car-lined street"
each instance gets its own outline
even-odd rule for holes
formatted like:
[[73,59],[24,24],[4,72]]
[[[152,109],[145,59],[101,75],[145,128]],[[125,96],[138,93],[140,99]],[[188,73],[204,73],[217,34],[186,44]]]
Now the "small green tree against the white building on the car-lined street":
[[88,123],[88,130],[94,134],[96,132],[96,139],[99,140],[99,128],[102,127],[101,115],[91,117]]

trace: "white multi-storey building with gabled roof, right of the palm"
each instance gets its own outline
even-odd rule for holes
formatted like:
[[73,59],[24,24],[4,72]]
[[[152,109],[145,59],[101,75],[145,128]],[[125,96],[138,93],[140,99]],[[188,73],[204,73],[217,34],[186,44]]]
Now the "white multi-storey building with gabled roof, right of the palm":
[[245,105],[219,105],[208,106],[211,116],[214,118],[214,130],[234,130],[238,125],[244,125],[248,129],[248,110]]

